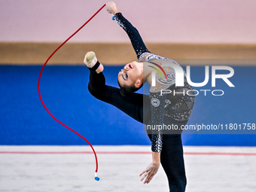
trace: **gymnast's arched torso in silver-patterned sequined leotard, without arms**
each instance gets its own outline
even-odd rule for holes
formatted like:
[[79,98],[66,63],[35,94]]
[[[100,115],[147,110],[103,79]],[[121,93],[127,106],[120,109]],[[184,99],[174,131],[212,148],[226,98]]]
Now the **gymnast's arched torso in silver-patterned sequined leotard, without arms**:
[[[160,65],[162,63],[173,63],[179,66],[178,62],[163,56],[157,56],[153,53],[142,53],[142,55],[139,57],[139,62],[145,62],[145,67],[147,67],[147,62],[154,62]],[[168,93],[166,93],[166,96],[162,95],[165,98],[164,115],[166,117],[171,117],[174,120],[188,120],[195,102],[195,96],[193,91],[190,91],[188,95],[187,90],[193,90],[193,87],[187,83],[185,72],[184,87],[175,87],[175,70],[171,66],[164,66],[163,70],[166,72],[167,80],[157,74],[157,86],[151,87],[151,97],[152,99],[158,98],[160,95],[160,90],[170,90]],[[154,104],[154,102],[151,101],[151,105],[157,106],[158,102],[155,102]]]

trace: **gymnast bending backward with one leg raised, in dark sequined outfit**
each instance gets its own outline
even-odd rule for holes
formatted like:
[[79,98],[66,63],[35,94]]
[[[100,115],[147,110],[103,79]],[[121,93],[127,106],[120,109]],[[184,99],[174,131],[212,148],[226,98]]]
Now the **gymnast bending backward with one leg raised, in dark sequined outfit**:
[[[151,84],[152,67],[162,66],[163,63],[173,63],[172,59],[150,53],[145,47],[137,29],[123,15],[117,11],[114,2],[106,5],[108,13],[113,14],[117,23],[126,31],[136,51],[139,62],[133,61],[117,75],[120,89],[105,85],[102,73],[104,67],[96,59],[93,52],[88,52],[84,63],[90,69],[88,90],[97,99],[108,102],[121,111],[146,125],[175,125],[178,130],[171,130],[164,134],[160,129],[148,129],[151,139],[152,163],[140,174],[141,181],[149,183],[159,169],[160,163],[166,172],[170,191],[184,191],[186,176],[184,169],[183,148],[181,143],[181,126],[187,123],[190,117],[194,96],[188,96],[187,90],[193,90],[187,84],[184,74],[184,87],[175,87],[175,71],[172,67],[163,67],[167,79],[156,77],[156,84],[151,87],[149,96],[134,93],[148,81]],[[148,67],[149,66],[149,67]],[[160,90],[171,90],[179,94],[160,94]]]

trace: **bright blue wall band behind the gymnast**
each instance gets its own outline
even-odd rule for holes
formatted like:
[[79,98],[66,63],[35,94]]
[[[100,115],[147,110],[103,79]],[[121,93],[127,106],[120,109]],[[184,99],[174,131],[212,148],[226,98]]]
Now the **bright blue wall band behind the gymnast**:
[[[106,84],[117,87],[120,68],[105,67]],[[235,87],[217,80],[216,87],[211,87],[210,81],[205,87],[195,88],[224,90],[225,93],[224,96],[200,93],[189,124],[256,123],[256,68],[233,69],[235,75],[230,81]],[[41,105],[37,89],[40,70],[41,66],[0,66],[0,145],[87,145],[53,120]],[[203,72],[203,67],[192,67],[192,81],[203,81]],[[141,123],[90,95],[88,75],[85,66],[45,67],[41,96],[51,113],[93,145],[150,145]],[[182,137],[184,145],[256,146],[255,136],[193,134]]]

